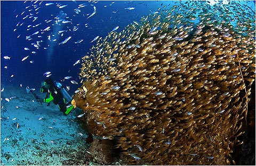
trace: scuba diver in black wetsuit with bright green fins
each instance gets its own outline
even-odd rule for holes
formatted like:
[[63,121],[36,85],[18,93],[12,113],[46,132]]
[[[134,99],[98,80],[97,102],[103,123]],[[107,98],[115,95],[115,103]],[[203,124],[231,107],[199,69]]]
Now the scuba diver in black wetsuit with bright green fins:
[[68,92],[59,82],[53,82],[52,78],[50,77],[41,83],[40,92],[47,92],[46,98],[38,98],[37,101],[47,102],[47,106],[49,106],[50,101],[53,101],[55,105],[59,105],[59,109],[61,112],[64,113],[64,115],[68,115],[68,113],[74,108],[74,106],[70,104],[72,98],[70,97]]

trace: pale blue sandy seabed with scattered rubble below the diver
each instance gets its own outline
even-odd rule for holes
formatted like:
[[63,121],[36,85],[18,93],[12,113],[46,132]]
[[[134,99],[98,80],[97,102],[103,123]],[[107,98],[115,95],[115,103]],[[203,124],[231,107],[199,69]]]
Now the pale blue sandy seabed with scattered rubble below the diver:
[[[77,121],[81,109],[65,116],[58,105],[37,102],[26,87],[3,88],[1,165],[62,165],[86,147],[87,135]],[[34,92],[41,98],[46,95]]]

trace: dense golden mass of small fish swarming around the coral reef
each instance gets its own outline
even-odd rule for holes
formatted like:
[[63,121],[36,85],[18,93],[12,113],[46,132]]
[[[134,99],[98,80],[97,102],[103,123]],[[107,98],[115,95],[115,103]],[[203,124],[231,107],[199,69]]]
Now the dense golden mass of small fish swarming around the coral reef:
[[254,13],[236,5],[181,2],[100,39],[74,102],[90,132],[127,164],[230,164],[255,77]]

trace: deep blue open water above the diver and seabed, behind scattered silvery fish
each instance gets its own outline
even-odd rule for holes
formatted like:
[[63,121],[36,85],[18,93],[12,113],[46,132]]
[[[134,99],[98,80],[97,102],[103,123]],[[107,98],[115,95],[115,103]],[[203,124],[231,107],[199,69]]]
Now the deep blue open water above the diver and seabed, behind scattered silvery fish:
[[[169,5],[174,2],[156,2],[156,1],[1,1],[1,84],[11,84],[14,86],[20,86],[22,84],[24,87],[34,86],[39,88],[40,83],[44,80],[45,76],[43,73],[46,71],[52,72],[52,78],[54,80],[60,81],[65,76],[72,76],[70,80],[75,80],[79,82],[78,73],[80,72],[81,64],[73,66],[76,60],[87,55],[89,49],[95,43],[90,43],[94,37],[106,37],[108,33],[113,30],[113,28],[119,26],[117,32],[122,31],[128,24],[133,21],[139,22],[143,15],[148,15],[150,12],[157,11],[158,7],[163,5]],[[54,3],[53,5],[46,6],[46,3]],[[114,3],[113,3],[114,2]],[[41,3],[41,5],[39,5]],[[63,5],[68,5],[64,8],[59,8],[56,3],[61,3]],[[78,7],[79,4],[85,3],[87,6],[79,8],[81,12],[76,14],[74,9]],[[162,5],[161,5],[162,4]],[[32,5],[41,6],[37,11]],[[107,7],[105,7],[105,5]],[[26,8],[29,6],[28,8]],[[87,17],[93,12],[93,6],[97,7],[97,13],[91,18]],[[171,7],[172,5],[168,6]],[[127,10],[125,7],[135,7],[134,10]],[[32,10],[32,11],[29,11]],[[41,34],[41,30],[46,27],[53,27],[52,24],[55,23],[54,17],[59,14],[60,11],[67,13],[69,17],[67,20],[72,19],[72,24],[65,24],[62,30],[68,30],[64,32],[63,37],[55,41],[53,55],[51,57],[51,63],[47,65],[47,36],[51,34],[52,30],[46,31]],[[22,12],[25,13],[21,15]],[[36,12],[39,12],[36,14]],[[24,18],[26,15],[34,14],[37,16],[37,20],[33,22],[34,18]],[[18,17],[15,16],[18,14]],[[89,14],[89,15],[87,15]],[[46,23],[45,20],[53,20],[52,22]],[[19,23],[18,27],[17,24]],[[20,26],[20,24],[23,25]],[[39,24],[38,27],[31,28],[33,25]],[[85,24],[88,23],[88,27]],[[32,25],[30,30],[27,30],[28,25]],[[79,24],[79,29],[73,31],[73,27]],[[17,29],[16,31],[13,31]],[[52,28],[51,28],[52,29]],[[70,29],[70,31],[69,31]],[[39,31],[38,34],[32,36],[33,40],[26,40],[26,36]],[[17,38],[20,35],[19,38]],[[42,38],[37,38],[37,36],[42,36]],[[65,40],[67,37],[71,36],[71,39],[63,44],[58,45],[61,41]],[[51,39],[53,39],[51,37]],[[83,42],[75,44],[74,42],[83,39]],[[31,43],[43,40],[41,42],[41,48],[36,49]],[[27,47],[30,50],[25,50]],[[31,54],[31,51],[36,51],[36,54]],[[23,57],[29,57],[23,62],[21,59]],[[9,56],[10,60],[6,60],[3,57]],[[33,60],[34,63],[29,63]],[[7,66],[7,69],[4,68]],[[11,75],[14,75],[11,77]],[[62,82],[63,85],[70,86],[74,90],[79,87],[79,85],[74,85],[70,83],[70,80]]]

